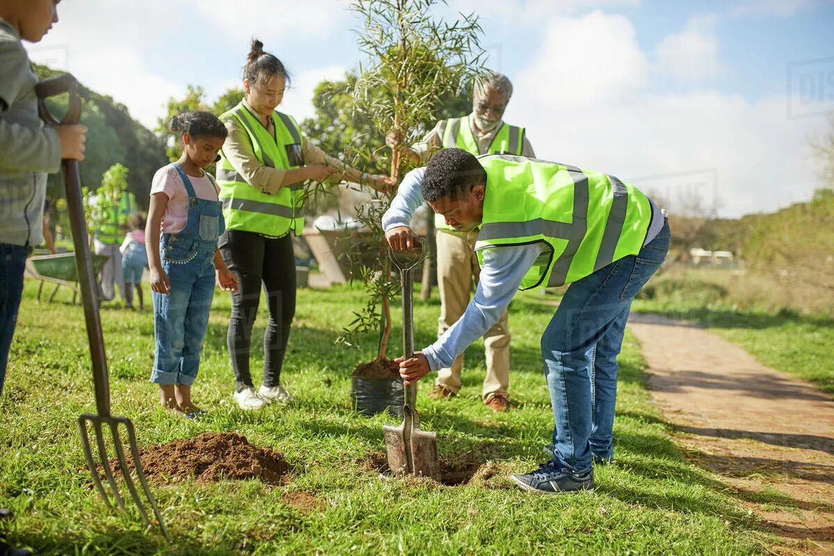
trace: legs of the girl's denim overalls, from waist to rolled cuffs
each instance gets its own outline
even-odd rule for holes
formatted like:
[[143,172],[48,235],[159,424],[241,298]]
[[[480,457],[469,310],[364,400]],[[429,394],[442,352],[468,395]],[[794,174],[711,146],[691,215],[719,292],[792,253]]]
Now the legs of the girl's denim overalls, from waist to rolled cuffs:
[[[169,255],[176,253],[168,253]],[[214,251],[200,250],[187,262],[163,258],[169,293],[153,292],[156,353],[151,382],[191,386],[197,378],[208,309],[214,298]]]

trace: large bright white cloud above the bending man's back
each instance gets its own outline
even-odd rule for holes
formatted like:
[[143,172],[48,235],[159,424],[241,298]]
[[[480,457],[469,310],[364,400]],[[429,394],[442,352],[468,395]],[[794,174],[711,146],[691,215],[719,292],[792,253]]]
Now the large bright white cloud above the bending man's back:
[[[750,103],[711,90],[651,94],[646,54],[620,16],[555,18],[546,30],[507,110],[507,121],[527,127],[538,157],[634,179],[672,210],[682,189],[701,194],[706,207],[717,195],[726,216],[806,200],[818,187],[807,137],[825,118],[790,120],[781,96]],[[572,33],[595,40],[567,49]]]

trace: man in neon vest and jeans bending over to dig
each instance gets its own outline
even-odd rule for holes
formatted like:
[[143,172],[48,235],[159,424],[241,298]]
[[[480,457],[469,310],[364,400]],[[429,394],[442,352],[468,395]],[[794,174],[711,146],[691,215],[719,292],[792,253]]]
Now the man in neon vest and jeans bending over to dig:
[[404,216],[424,199],[455,229],[480,227],[480,283],[460,320],[413,358],[398,360],[400,375],[411,384],[448,367],[498,320],[516,289],[570,283],[541,337],[553,458],[512,479],[544,493],[594,488],[592,463],[613,456],[625,321],[666,258],[666,218],[639,189],[605,173],[447,148],[399,186],[382,222],[391,248],[414,248]]

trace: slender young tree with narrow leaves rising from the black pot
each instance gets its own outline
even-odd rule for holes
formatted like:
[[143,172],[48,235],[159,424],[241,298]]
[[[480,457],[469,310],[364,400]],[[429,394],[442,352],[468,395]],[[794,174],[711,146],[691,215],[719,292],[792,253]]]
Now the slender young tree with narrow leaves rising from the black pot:
[[[435,0],[357,0],[352,4],[364,22],[357,36],[368,62],[360,65],[355,82],[345,93],[352,93],[354,118],[373,127],[374,131],[364,132],[368,137],[379,141],[394,131],[399,138],[388,166],[396,182],[407,169],[400,147],[425,133],[426,123],[435,118],[443,98],[460,94],[464,84],[480,73],[485,58],[477,18],[470,14],[451,23],[435,20],[431,12],[436,4]],[[338,110],[335,115],[342,118]],[[381,145],[367,143],[364,149],[347,150],[369,162],[384,160],[379,154],[384,150]],[[342,336],[379,329],[379,359],[386,356],[391,329],[389,302],[397,289],[397,282],[391,280],[388,245],[379,221],[394,193],[374,192],[358,211],[359,220],[369,230],[367,242],[359,248],[373,250],[378,256],[374,268],[361,272],[369,301]],[[377,310],[380,305],[381,312]]]

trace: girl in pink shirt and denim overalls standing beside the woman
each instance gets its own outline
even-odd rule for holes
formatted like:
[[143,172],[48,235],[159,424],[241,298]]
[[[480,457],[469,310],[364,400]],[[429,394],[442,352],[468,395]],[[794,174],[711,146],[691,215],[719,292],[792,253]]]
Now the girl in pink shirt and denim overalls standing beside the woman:
[[151,382],[159,384],[163,408],[193,418],[205,413],[191,400],[191,384],[203,351],[215,271],[221,288],[238,288],[217,250],[224,231],[217,185],[203,171],[217,158],[227,131],[208,112],[180,114],[172,118],[171,129],[183,133],[183,156],[153,177],[146,229],[156,340]]

